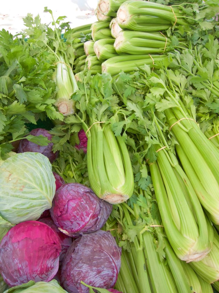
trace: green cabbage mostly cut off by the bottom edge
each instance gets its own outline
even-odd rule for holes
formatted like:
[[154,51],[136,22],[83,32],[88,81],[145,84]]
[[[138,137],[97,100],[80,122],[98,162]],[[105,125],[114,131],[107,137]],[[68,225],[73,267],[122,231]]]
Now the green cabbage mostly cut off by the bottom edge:
[[26,284],[12,287],[4,293],[68,293],[59,286],[56,280],[50,282],[34,282],[29,281]]

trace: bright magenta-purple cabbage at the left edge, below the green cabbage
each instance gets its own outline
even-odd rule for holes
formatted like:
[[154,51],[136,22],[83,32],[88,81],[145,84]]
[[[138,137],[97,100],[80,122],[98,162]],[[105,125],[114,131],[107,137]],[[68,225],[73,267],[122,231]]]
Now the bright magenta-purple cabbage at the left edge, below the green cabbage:
[[0,273],[11,287],[49,282],[59,267],[60,239],[48,225],[26,221],[12,227],[0,243]]

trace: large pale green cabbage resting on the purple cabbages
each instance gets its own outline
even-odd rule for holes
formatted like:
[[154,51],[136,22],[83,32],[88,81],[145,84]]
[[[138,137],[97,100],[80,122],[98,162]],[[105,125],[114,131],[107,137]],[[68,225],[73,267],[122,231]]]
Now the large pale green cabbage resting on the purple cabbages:
[[19,153],[0,166],[0,216],[11,224],[37,220],[50,209],[55,177],[48,158],[40,153]]

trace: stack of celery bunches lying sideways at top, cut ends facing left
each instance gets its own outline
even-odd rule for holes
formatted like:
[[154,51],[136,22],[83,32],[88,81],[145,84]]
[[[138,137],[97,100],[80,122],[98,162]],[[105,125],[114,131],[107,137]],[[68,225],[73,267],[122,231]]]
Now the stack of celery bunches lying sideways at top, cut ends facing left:
[[[99,1],[98,22],[91,26],[94,42],[87,68],[112,75],[121,68],[129,72],[162,60],[169,51],[187,47],[181,30],[192,33],[203,17],[197,17],[195,10],[189,16],[186,12],[180,6],[142,0]],[[88,45],[91,48],[92,44]]]

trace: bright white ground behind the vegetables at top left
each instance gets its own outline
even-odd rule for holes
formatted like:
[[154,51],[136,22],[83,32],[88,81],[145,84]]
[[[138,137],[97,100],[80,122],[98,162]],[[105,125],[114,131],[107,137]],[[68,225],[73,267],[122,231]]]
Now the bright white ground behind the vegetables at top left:
[[71,22],[75,28],[79,25],[97,21],[94,10],[98,0],[1,0],[0,1],[0,30],[3,28],[15,35],[25,28],[22,18],[27,13],[40,15],[43,23],[51,22],[50,13],[45,13],[44,7],[53,11],[54,18],[67,16],[65,21]]

